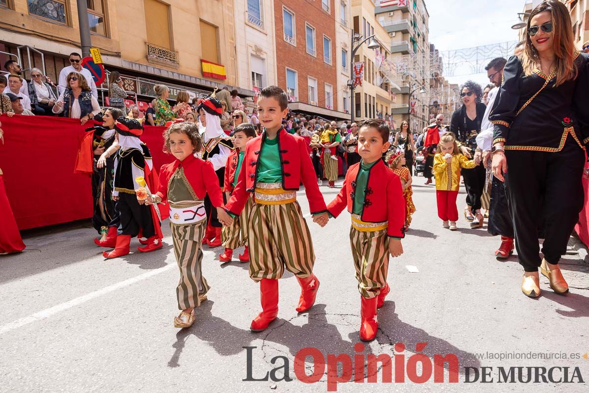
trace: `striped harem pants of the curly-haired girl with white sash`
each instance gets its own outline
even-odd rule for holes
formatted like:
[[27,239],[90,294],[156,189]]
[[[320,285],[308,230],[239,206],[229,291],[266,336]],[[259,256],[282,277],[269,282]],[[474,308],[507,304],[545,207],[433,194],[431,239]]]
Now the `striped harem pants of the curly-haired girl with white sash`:
[[192,225],[176,225],[170,223],[174,256],[180,269],[180,282],[176,288],[178,309],[200,306],[199,295],[209,291],[209,284],[203,277],[202,241],[207,228],[207,220]]

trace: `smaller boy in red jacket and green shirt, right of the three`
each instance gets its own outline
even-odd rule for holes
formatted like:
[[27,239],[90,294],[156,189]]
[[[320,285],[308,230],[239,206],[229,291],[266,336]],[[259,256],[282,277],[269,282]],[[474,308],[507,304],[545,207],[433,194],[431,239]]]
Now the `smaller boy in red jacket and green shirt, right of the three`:
[[348,169],[346,180],[327,206],[333,217],[348,207],[352,213],[350,243],[361,295],[360,339],[376,336],[376,309],[391,290],[386,282],[389,254],[403,253],[405,199],[399,176],[382,161],[389,148],[389,127],[380,119],[359,124],[358,153],[362,161]]

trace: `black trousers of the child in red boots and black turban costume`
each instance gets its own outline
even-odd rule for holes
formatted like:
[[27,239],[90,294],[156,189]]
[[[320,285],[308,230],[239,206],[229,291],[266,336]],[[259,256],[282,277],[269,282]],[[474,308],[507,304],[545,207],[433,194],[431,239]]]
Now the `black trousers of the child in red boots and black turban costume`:
[[115,212],[118,212],[120,220],[118,234],[135,237],[141,229],[143,237],[155,236],[151,207],[139,204],[135,194],[119,193],[118,196],[119,199],[115,204]]

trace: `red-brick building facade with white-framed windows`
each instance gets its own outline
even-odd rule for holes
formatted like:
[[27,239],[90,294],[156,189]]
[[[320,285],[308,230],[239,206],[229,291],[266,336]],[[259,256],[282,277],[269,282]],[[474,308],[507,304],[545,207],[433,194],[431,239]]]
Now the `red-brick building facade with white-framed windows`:
[[[337,5],[337,7],[336,7]],[[276,75],[294,111],[346,120],[339,102],[336,58],[339,1],[274,0]]]

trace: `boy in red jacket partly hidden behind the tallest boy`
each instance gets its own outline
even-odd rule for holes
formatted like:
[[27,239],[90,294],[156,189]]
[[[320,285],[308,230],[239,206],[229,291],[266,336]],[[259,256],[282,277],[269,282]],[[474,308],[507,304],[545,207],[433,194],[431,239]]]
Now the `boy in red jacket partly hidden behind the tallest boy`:
[[[225,185],[224,190],[227,200],[231,197],[233,189],[237,185],[237,175],[243,165],[243,158],[246,155],[247,141],[257,137],[256,128],[250,123],[241,123],[233,130],[233,146],[235,150],[231,151],[227,164],[225,164]],[[223,247],[225,251],[219,255],[221,263],[229,262],[233,256],[233,249],[245,246],[243,254],[239,256],[241,262],[250,260],[250,254],[247,247],[247,217],[252,211],[253,201],[249,198],[244,207],[243,212],[239,216],[239,220],[233,220],[233,224],[229,227],[223,227],[221,231],[221,239],[223,240]]]

